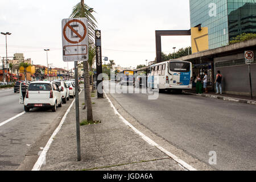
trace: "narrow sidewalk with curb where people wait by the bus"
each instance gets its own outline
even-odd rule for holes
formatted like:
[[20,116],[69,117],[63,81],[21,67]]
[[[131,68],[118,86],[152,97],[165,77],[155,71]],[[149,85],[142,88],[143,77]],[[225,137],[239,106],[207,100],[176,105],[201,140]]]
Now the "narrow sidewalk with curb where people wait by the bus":
[[186,94],[193,94],[195,96],[201,96],[201,97],[210,97],[210,98],[217,98],[225,101],[234,101],[234,102],[241,102],[245,104],[252,104],[256,105],[256,97],[253,97],[251,99],[250,96],[239,96],[239,95],[234,95],[234,94],[216,94],[215,92],[208,92],[207,94],[197,94],[195,90],[188,90],[185,91],[184,93]]

